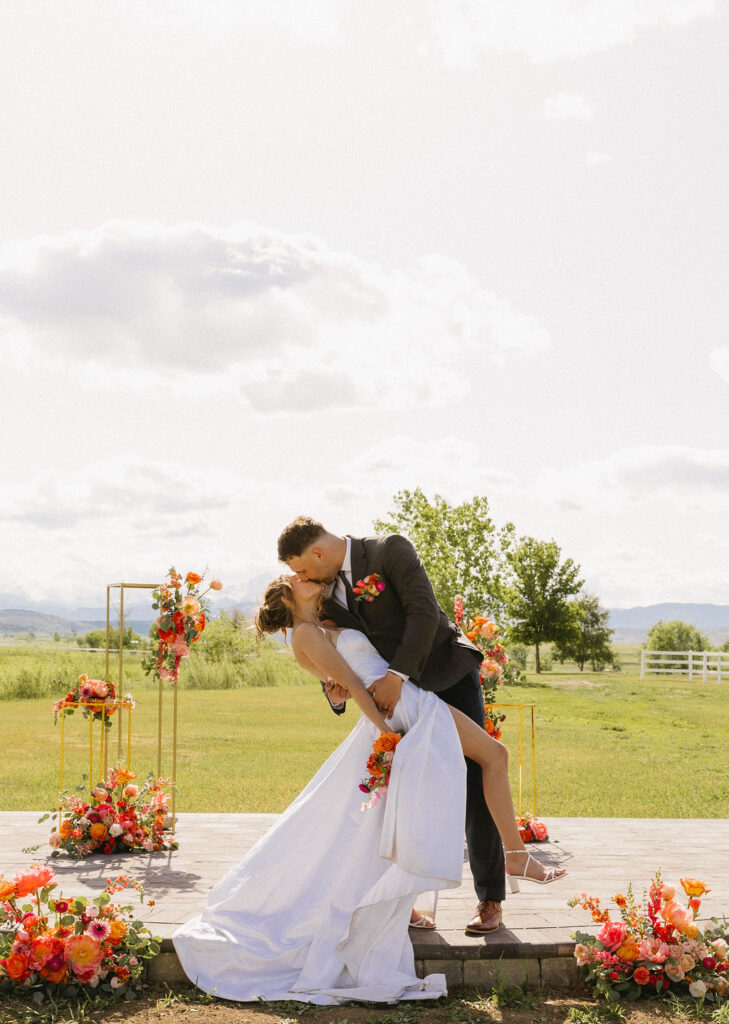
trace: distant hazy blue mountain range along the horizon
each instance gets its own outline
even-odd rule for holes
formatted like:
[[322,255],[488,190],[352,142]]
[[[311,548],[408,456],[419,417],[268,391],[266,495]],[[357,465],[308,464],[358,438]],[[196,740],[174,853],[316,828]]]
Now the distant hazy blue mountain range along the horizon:
[[[248,594],[257,592],[265,581],[254,581]],[[254,590],[255,588],[255,590]],[[8,603],[10,602],[10,603]],[[59,608],[43,602],[33,602],[32,607],[13,606],[12,595],[0,594],[0,635],[35,633],[36,636],[52,636],[88,633],[89,630],[105,626],[106,609],[100,606]],[[256,607],[256,599],[248,595],[241,600],[231,598],[217,600],[214,611],[224,608],[240,608],[250,615]],[[729,604],[689,604],[663,602],[634,608],[609,608],[609,626],[614,630],[615,643],[642,643],[648,631],[658,620],[680,618],[691,623],[706,633],[713,643],[723,643],[729,639]],[[125,625],[145,634],[155,618],[155,612],[146,603],[130,603],[125,608]]]

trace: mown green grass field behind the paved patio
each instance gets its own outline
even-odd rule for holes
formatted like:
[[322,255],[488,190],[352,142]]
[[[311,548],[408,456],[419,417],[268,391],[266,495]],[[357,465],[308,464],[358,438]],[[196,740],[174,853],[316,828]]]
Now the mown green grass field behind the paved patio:
[[[0,679],[9,671],[4,653]],[[271,656],[276,679],[295,684],[190,689],[181,676],[179,810],[281,811],[354,724],[352,710],[342,718],[329,711],[315,681],[302,685],[306,677],[288,654]],[[500,691],[505,703],[535,706],[540,815],[727,816],[729,686],[567,669],[557,666],[539,681],[530,675],[527,684]],[[156,767],[157,695],[138,679],[125,680],[127,686],[138,701],[132,767],[144,775]],[[169,736],[172,703],[165,695]],[[59,727],[53,726],[51,702],[48,696],[0,700],[0,810],[53,803]],[[507,714],[503,739],[512,754],[516,800],[518,712]],[[531,809],[528,722],[525,716],[524,810]],[[66,779],[75,783],[88,770],[88,724],[79,715],[67,723],[67,745]],[[169,770],[167,757],[163,773]]]

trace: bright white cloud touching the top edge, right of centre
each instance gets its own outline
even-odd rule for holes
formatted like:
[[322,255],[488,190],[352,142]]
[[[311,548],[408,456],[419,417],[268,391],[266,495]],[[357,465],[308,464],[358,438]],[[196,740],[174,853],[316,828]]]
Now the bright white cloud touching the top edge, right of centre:
[[627,45],[642,29],[687,25],[715,8],[714,0],[436,0],[432,45],[453,68],[488,51],[546,62]]

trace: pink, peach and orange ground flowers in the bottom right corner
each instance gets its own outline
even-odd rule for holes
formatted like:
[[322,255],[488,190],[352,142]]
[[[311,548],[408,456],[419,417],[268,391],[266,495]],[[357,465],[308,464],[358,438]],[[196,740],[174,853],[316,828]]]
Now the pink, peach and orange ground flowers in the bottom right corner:
[[712,918],[714,927],[696,925],[700,897],[711,890],[698,879],[681,879],[688,897],[684,907],[676,899],[676,886],[651,879],[644,902],[638,903],[629,887],[626,896],[612,897],[619,910],[613,921],[600,900],[586,893],[573,896],[569,906],[590,911],[597,935],[574,932],[574,956],[595,983],[595,995],[610,1000],[637,999],[644,992],[688,992],[701,1002],[721,1001],[729,992],[727,929]]

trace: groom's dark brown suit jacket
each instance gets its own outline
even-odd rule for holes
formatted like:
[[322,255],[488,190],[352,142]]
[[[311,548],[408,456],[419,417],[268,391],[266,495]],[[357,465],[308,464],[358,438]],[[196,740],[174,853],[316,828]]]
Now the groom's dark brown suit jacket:
[[391,669],[424,690],[446,690],[479,665],[483,655],[440,608],[410,541],[396,534],[352,538],[351,552],[353,585],[377,572],[385,589],[350,611],[327,600],[327,617],[361,630]]

